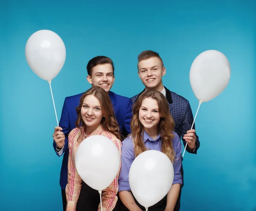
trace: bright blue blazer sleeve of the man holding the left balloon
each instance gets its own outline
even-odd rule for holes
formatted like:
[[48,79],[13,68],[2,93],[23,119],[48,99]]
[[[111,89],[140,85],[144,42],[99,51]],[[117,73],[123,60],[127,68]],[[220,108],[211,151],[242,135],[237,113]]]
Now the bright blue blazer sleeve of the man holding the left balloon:
[[59,126],[62,128],[62,132],[65,135],[65,142],[62,148],[57,148],[55,141],[53,141],[53,148],[56,154],[58,155],[58,157],[60,157],[68,148],[68,134],[70,132],[69,131],[70,125],[69,125],[69,117],[67,112],[67,97],[64,100],[64,105],[62,108],[61,120],[60,120]]

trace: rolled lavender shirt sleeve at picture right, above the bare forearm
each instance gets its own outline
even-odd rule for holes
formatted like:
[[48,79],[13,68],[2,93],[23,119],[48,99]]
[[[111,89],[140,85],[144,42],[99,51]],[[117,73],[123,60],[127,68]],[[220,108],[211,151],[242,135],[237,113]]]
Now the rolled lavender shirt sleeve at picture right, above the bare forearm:
[[182,185],[182,176],[181,176],[181,143],[179,136],[175,133],[175,137],[173,138],[173,145],[175,145],[175,161],[173,163],[173,170],[174,170],[174,178],[172,184],[180,183]]

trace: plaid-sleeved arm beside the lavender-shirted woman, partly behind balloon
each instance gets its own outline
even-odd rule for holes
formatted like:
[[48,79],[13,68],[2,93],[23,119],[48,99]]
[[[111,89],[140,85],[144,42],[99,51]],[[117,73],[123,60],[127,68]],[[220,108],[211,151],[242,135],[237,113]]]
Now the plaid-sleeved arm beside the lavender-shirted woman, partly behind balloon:
[[[121,157],[121,141],[114,140],[113,143],[116,145]],[[121,168],[121,163],[120,163],[116,178],[113,180],[111,185],[108,186],[108,188],[102,191],[102,211],[112,211],[113,208],[115,208],[116,206],[116,202],[117,202],[116,194],[118,191],[118,176],[120,173],[120,168]],[[101,211],[100,204],[99,204],[98,211]]]

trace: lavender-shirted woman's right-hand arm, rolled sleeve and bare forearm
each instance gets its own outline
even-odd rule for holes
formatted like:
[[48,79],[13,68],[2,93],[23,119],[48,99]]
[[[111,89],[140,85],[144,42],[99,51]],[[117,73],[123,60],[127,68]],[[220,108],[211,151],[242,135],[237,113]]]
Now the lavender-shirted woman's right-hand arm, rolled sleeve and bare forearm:
[[182,184],[181,176],[181,143],[180,138],[177,134],[173,139],[173,144],[175,144],[175,162],[173,163],[174,177],[172,182],[172,187],[167,194],[167,203],[165,211],[173,211],[180,193],[180,185]]

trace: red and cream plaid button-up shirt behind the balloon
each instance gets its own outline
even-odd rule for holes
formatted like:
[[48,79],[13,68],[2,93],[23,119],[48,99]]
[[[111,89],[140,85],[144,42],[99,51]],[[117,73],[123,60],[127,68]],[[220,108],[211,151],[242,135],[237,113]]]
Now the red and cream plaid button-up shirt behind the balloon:
[[[78,172],[76,171],[76,165],[75,165],[75,154],[76,150],[79,147],[81,141],[85,138],[92,136],[92,135],[102,135],[110,140],[113,141],[113,143],[118,148],[120,157],[121,157],[121,141],[116,138],[114,134],[111,132],[105,131],[102,128],[102,125],[99,125],[99,127],[93,131],[88,136],[85,135],[85,133],[81,134],[82,137],[80,140],[78,140],[79,136],[81,134],[81,131],[79,128],[74,128],[69,136],[68,136],[68,147],[70,150],[69,158],[68,158],[68,176],[67,176],[67,187],[66,187],[66,197],[67,197],[67,208],[66,211],[76,211],[76,203],[79,198],[79,194],[81,191],[81,183],[82,179],[79,176]],[[120,168],[118,174],[116,175],[116,178],[113,180],[111,185],[108,186],[108,188],[104,189],[102,191],[102,210],[103,211],[112,211],[113,208],[116,205],[117,201],[117,191],[118,191],[118,176],[120,173]],[[100,204],[98,210],[101,210]]]

